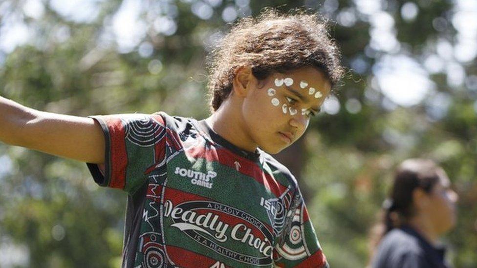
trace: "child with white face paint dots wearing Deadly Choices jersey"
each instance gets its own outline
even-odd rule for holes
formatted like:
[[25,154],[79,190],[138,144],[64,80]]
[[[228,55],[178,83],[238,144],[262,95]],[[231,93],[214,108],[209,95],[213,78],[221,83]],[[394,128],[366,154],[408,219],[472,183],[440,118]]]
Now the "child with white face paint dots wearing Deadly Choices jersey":
[[292,174],[299,139],[343,73],[316,15],[239,21],[213,54],[212,115],[73,117],[0,97],[0,140],[87,162],[128,194],[123,267],[327,267]]

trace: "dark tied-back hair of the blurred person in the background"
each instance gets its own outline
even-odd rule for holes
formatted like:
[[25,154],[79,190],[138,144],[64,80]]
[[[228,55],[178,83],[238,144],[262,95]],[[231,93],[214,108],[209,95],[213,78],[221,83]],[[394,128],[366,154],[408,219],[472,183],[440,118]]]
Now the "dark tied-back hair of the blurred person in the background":
[[429,159],[408,159],[398,166],[390,192],[383,203],[381,220],[371,229],[371,251],[374,251],[386,233],[405,225],[414,216],[412,193],[421,188],[430,193],[443,169]]

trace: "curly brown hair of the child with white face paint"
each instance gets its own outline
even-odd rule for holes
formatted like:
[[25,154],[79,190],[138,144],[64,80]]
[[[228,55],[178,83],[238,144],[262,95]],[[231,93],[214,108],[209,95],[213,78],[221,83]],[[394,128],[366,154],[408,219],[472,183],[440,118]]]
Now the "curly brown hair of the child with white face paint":
[[262,80],[273,72],[313,66],[334,86],[344,73],[340,58],[325,21],[318,15],[265,9],[256,19],[237,22],[212,52],[208,81],[211,110],[216,111],[229,96],[240,67],[251,67],[253,75]]

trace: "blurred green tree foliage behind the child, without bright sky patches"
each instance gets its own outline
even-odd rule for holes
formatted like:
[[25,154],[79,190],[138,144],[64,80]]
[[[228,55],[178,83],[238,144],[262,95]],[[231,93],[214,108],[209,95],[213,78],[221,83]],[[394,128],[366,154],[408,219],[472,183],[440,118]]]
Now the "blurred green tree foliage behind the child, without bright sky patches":
[[[7,2],[12,5],[3,9],[5,14],[22,15],[21,1]],[[37,29],[35,41],[17,47],[0,63],[0,95],[36,109],[79,116],[164,110],[204,118],[208,115],[205,56],[214,42],[211,37],[229,27],[222,20],[223,10],[236,5],[219,1],[212,16],[203,20],[191,11],[195,2],[159,0],[151,10],[157,6],[163,10],[154,16],[142,10],[148,31],[139,44],[147,42],[153,48],[146,56],[138,53],[137,46],[118,53],[114,39],[104,36],[122,3],[119,0],[100,1],[98,15],[87,22],[72,21],[50,7],[39,19],[24,17],[27,25]],[[457,227],[445,237],[451,261],[458,268],[475,267],[475,90],[448,84],[440,72],[430,79],[436,84],[435,93],[449,97],[444,116],[430,116],[426,100],[389,108],[383,105],[386,97],[375,86],[373,73],[375,63],[388,52],[370,49],[372,27],[355,1],[237,2],[245,3],[236,6],[238,16],[257,15],[266,6],[288,11],[302,5],[332,21],[344,11],[355,14],[354,23],[330,27],[349,68],[344,84],[336,89],[342,108],[336,115],[322,113],[312,122],[304,145],[297,149],[306,157],[295,173],[301,174],[297,177],[330,264],[366,266],[368,230],[389,190],[392,168],[409,157],[430,157],[443,165],[460,197]],[[383,10],[394,19],[397,40],[417,62],[437,40],[455,39],[450,1],[416,1],[419,15],[413,21],[401,18],[402,2],[385,2]],[[329,7],[330,3],[338,6]],[[177,31],[158,33],[153,27],[158,16],[171,16]],[[433,28],[437,17],[447,20],[447,28]],[[66,38],[58,38],[60,29],[69,33]],[[356,60],[365,67],[352,67]],[[462,67],[467,77],[477,75],[474,65]],[[345,108],[350,99],[362,108],[350,112]],[[0,234],[27,246],[28,267],[119,266],[126,196],[96,186],[84,164],[0,144],[0,189]]]

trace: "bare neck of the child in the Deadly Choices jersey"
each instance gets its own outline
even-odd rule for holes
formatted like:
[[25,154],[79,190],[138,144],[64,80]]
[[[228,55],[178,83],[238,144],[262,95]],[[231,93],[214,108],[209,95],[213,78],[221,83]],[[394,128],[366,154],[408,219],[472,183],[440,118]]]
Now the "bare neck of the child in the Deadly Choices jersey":
[[239,109],[233,103],[222,103],[222,105],[205,121],[210,128],[227,140],[229,143],[250,152],[255,152],[257,144],[248,135],[243,125],[243,119]]

